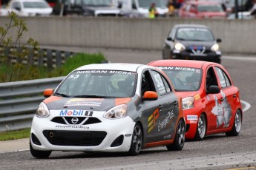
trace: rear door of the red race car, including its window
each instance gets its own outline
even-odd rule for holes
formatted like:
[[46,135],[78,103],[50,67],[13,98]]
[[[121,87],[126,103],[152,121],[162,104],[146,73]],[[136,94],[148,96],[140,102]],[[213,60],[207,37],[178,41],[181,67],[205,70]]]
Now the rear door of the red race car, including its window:
[[232,86],[232,81],[227,73],[220,67],[214,67],[217,72],[217,79],[220,82],[220,105],[223,108],[224,125],[223,129],[231,127],[234,122],[234,114],[237,108],[238,89]]

